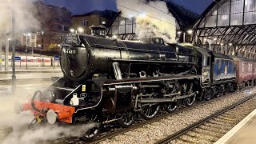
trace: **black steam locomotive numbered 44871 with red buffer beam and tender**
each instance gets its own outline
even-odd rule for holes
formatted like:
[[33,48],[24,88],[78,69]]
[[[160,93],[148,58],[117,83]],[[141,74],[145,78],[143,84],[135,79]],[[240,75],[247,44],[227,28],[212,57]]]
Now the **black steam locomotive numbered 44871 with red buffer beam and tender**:
[[162,38],[118,41],[67,34],[60,62],[64,77],[35,92],[17,111],[34,112],[32,127],[38,122],[97,122],[85,139],[94,138],[110,122],[128,127],[135,115],[154,118],[159,110],[172,112],[182,104],[193,105],[196,98],[234,90],[232,59],[193,46],[165,44]]

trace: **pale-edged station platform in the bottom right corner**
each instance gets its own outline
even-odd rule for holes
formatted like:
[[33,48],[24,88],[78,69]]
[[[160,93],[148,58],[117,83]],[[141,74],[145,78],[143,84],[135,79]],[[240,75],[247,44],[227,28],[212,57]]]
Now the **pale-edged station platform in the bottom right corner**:
[[256,143],[256,109],[242,119],[215,144],[251,144]]

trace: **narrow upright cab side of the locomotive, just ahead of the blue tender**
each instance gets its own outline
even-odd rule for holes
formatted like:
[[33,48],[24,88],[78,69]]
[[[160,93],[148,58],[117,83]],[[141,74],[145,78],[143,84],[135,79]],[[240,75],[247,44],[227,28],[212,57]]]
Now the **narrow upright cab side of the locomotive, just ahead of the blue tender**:
[[210,56],[202,56],[202,85],[210,84]]

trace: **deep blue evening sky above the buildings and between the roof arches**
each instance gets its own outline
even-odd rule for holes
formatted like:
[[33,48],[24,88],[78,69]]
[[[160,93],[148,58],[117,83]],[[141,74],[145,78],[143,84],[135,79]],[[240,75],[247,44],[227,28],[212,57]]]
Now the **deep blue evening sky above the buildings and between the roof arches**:
[[[92,10],[117,10],[115,0],[42,0],[51,5],[66,7],[74,14],[85,14]],[[129,0],[123,0],[129,1]],[[172,0],[198,14],[206,9],[214,0]]]

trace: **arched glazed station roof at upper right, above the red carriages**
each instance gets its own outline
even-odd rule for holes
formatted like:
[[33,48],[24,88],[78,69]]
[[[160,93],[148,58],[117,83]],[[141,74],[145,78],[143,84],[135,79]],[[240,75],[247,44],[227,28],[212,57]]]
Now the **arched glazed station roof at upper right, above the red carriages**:
[[196,46],[256,58],[256,0],[215,0],[193,29]]

